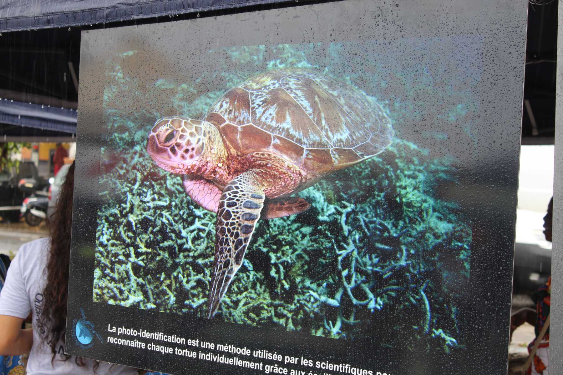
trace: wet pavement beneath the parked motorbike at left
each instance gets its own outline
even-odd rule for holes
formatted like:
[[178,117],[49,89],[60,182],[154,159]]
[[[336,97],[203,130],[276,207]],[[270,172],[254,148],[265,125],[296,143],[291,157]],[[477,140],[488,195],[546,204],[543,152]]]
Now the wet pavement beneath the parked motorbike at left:
[[49,230],[45,222],[42,222],[38,227],[31,227],[24,220],[19,223],[9,223],[2,220],[0,221],[0,252],[14,257],[24,243],[48,235]]

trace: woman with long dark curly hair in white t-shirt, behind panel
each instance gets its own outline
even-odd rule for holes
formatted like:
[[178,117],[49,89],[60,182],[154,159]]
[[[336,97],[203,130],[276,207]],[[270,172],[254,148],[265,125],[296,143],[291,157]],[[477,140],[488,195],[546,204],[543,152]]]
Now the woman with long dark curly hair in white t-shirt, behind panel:
[[[28,375],[137,374],[137,369],[64,354],[74,163],[52,215],[51,237],[23,245],[0,293],[0,355],[29,353]],[[32,315],[32,328],[22,323]]]

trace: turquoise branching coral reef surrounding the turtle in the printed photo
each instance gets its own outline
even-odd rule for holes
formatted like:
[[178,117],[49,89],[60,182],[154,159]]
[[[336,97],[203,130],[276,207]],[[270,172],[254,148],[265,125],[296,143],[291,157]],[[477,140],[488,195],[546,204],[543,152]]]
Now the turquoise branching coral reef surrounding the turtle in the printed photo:
[[[204,92],[197,82],[160,79],[150,89],[166,89],[179,114],[197,118],[254,73],[316,67],[306,52],[287,45],[227,48],[230,69],[214,73],[223,87]],[[138,82],[116,61],[107,71],[93,300],[203,318],[215,214],[195,205],[181,178],[145,152],[152,123],[144,119],[165,114],[124,112],[116,105],[119,93],[135,92]],[[468,284],[471,225],[438,192],[455,186],[455,176],[451,157],[396,139],[380,155],[300,192],[311,209],[258,223],[215,319],[333,338],[377,337],[390,347],[463,347],[456,306]]]

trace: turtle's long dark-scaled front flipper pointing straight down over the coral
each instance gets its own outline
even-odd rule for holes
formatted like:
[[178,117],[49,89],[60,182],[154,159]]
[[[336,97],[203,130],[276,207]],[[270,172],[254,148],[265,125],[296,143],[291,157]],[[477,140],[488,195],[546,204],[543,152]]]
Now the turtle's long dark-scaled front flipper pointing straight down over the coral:
[[221,195],[215,227],[215,269],[208,302],[209,319],[217,312],[219,302],[243,263],[264,198],[252,170],[234,178]]

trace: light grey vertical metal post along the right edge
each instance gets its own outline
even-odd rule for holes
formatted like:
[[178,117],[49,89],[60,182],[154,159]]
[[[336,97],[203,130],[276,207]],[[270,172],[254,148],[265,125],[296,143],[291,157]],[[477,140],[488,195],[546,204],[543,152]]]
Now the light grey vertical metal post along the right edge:
[[555,171],[553,180],[553,247],[551,253],[551,327],[549,373],[563,374],[563,0],[557,29]]

